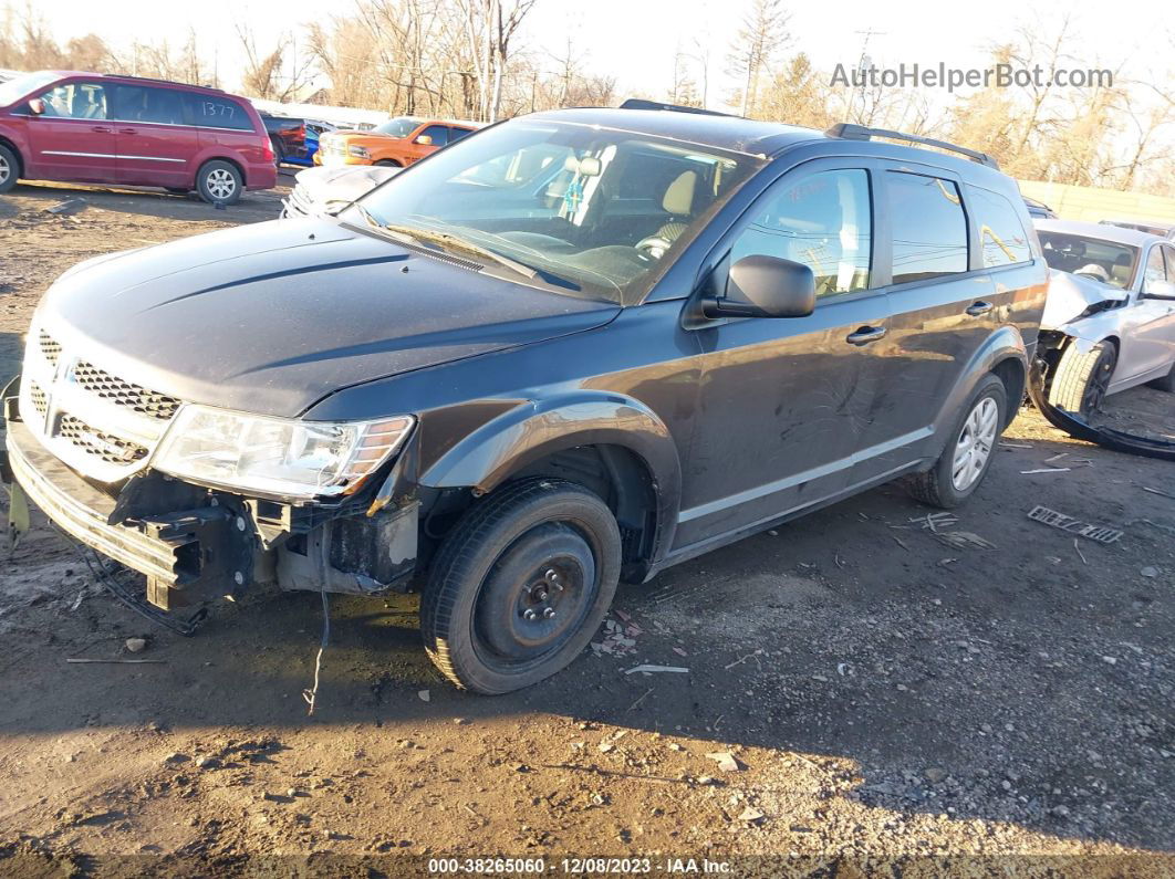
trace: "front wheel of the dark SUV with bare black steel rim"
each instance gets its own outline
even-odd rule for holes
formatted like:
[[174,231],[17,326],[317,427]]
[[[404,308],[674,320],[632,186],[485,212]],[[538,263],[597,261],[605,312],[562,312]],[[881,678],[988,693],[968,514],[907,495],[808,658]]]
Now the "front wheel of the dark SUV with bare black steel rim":
[[529,687],[583,651],[619,575],[620,532],[599,496],[558,479],[509,484],[437,552],[421,601],[424,648],[463,689]]

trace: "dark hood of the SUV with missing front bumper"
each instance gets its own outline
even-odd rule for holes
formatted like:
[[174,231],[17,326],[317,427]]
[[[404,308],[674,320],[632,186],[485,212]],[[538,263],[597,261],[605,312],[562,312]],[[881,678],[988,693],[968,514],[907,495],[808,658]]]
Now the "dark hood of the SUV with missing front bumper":
[[36,320],[123,380],[293,417],[351,385],[582,332],[618,312],[307,218],[93,261],[53,285]]

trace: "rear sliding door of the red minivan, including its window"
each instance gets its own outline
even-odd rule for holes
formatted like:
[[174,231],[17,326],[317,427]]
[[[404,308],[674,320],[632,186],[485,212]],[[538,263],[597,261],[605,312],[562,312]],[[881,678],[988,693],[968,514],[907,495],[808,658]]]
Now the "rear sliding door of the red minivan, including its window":
[[156,86],[116,84],[114,92],[120,183],[190,185],[200,134],[183,92]]

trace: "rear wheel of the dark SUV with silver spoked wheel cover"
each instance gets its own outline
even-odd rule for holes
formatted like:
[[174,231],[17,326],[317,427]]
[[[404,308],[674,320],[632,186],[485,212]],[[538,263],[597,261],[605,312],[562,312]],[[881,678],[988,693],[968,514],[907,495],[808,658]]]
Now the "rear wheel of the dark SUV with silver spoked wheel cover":
[[[906,487],[915,500],[941,509],[952,509],[967,500],[982,484],[995,458],[995,445],[1007,425],[1008,392],[998,376],[983,377],[964,406],[939,460],[926,473],[909,476]],[[979,440],[976,442],[976,439]],[[964,444],[974,449],[966,471],[960,467]],[[982,458],[978,458],[982,449]],[[966,478],[964,478],[966,476]]]

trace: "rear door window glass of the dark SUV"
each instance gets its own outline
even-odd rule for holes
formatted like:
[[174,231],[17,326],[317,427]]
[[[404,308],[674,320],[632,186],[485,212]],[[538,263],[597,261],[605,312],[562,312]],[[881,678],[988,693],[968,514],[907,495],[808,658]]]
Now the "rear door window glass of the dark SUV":
[[967,217],[948,180],[888,171],[893,283],[967,271]]

